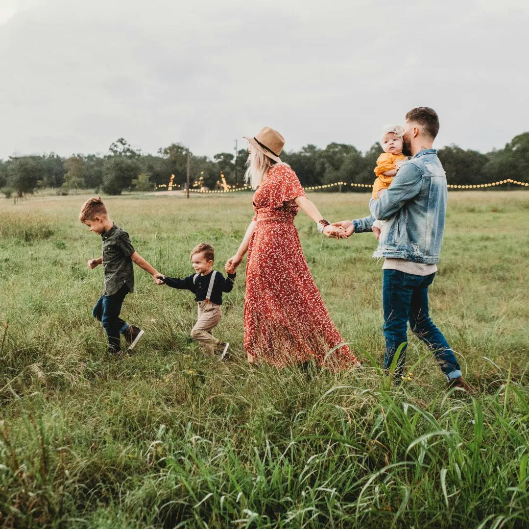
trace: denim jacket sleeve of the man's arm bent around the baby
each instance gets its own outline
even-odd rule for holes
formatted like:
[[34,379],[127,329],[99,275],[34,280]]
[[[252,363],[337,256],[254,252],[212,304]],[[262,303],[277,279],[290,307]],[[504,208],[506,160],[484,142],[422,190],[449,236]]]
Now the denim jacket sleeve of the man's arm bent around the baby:
[[369,209],[373,217],[386,221],[416,196],[423,185],[421,171],[414,163],[405,163],[391,182],[391,185],[378,198],[371,198]]

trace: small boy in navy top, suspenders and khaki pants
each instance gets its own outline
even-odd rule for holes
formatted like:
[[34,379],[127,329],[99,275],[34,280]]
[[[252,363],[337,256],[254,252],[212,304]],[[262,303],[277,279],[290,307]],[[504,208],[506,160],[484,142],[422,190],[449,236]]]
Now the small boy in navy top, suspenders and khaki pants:
[[213,270],[215,251],[209,244],[199,244],[191,251],[190,257],[196,272],[193,275],[184,279],[161,274],[157,277],[172,288],[190,290],[195,294],[198,321],[191,330],[191,336],[200,342],[200,349],[206,356],[211,357],[218,352],[223,360],[230,344],[217,340],[211,331],[221,321],[222,293],[231,292],[236,274],[229,273],[224,279],[222,273]]

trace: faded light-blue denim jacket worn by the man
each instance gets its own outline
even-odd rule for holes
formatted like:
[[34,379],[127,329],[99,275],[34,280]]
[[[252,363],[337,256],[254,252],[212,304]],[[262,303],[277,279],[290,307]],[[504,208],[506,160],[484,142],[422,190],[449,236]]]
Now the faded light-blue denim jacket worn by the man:
[[371,231],[376,218],[387,221],[373,257],[436,263],[443,240],[446,191],[437,151],[423,149],[400,167],[380,198],[371,199],[371,216],[354,220],[354,232]]

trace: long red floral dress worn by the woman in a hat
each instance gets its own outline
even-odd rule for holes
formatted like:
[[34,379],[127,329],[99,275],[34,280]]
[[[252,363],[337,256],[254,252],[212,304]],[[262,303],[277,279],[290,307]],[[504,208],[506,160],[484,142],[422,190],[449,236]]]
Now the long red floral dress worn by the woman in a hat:
[[248,249],[244,349],[273,366],[314,358],[318,365],[354,366],[357,359],[331,321],[294,225],[305,196],[285,163],[270,168],[253,195],[256,227]]

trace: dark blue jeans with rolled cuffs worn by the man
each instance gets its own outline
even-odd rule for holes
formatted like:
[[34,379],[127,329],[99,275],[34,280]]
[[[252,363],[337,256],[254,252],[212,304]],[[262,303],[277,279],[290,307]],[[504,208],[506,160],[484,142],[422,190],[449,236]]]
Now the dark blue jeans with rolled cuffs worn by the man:
[[384,325],[382,332],[386,338],[384,367],[388,369],[400,344],[404,348],[400,353],[396,372],[404,373],[406,359],[407,324],[433,352],[441,370],[448,380],[461,376],[461,370],[455,354],[437,329],[428,314],[428,287],[432,284],[435,273],[429,276],[415,276],[400,270],[383,270],[382,306],[384,307]]

